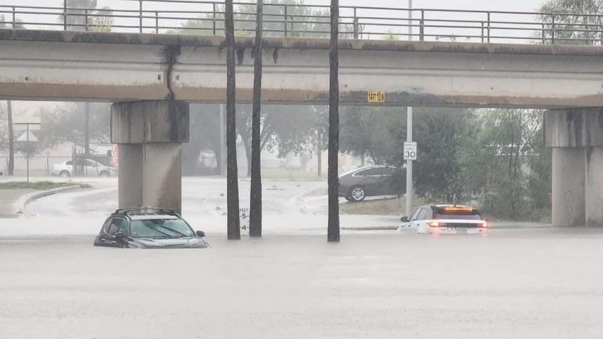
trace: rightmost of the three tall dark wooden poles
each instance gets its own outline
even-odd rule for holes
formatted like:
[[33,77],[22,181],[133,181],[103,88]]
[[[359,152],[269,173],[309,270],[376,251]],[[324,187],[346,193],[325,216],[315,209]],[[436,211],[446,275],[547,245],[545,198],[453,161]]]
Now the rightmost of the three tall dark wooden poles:
[[339,0],[331,0],[331,50],[329,52],[329,225],[327,240],[339,242]]

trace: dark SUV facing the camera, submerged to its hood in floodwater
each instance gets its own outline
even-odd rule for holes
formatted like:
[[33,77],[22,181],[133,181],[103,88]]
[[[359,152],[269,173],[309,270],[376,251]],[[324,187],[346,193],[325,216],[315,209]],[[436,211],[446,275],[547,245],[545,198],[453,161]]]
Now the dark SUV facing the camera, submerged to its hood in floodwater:
[[102,225],[94,245],[121,248],[207,248],[205,232],[194,231],[174,210],[116,210]]

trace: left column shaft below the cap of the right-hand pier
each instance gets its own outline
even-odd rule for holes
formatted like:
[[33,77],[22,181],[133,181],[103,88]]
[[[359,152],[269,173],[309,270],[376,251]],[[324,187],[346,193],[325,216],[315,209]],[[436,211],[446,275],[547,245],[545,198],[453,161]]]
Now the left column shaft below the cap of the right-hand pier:
[[553,225],[585,225],[584,149],[553,149]]

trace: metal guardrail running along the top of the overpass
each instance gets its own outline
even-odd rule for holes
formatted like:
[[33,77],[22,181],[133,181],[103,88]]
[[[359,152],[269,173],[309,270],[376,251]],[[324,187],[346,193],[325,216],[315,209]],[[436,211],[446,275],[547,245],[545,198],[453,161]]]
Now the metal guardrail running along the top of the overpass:
[[[17,0],[14,0],[17,2]],[[116,8],[0,5],[0,27],[224,34],[222,1],[114,0]],[[255,33],[255,4],[235,4],[235,30]],[[265,4],[265,36],[329,37],[329,6]],[[340,6],[340,38],[603,45],[598,14]]]

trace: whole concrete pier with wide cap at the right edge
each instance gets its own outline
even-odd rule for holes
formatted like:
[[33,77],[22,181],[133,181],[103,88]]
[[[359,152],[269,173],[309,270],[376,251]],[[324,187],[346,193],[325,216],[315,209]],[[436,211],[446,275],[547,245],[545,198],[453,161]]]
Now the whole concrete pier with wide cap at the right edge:
[[603,108],[545,113],[553,148],[553,225],[603,227]]

